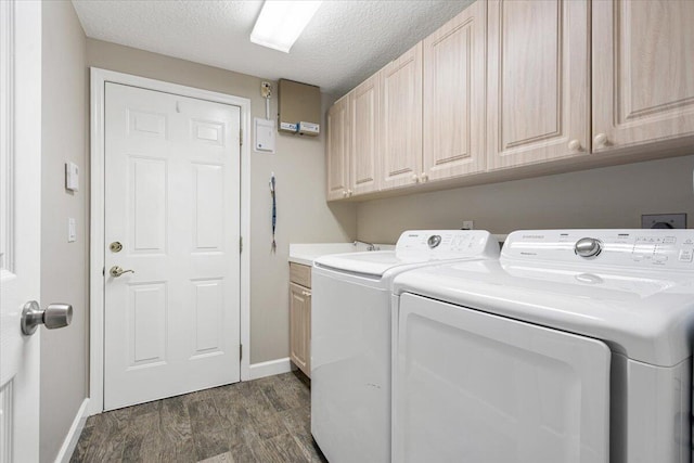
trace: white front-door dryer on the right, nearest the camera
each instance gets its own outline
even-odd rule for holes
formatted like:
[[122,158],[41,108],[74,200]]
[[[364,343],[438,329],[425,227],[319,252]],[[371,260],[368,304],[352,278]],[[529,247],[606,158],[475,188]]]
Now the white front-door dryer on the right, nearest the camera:
[[694,231],[518,231],[394,282],[394,462],[692,458]]

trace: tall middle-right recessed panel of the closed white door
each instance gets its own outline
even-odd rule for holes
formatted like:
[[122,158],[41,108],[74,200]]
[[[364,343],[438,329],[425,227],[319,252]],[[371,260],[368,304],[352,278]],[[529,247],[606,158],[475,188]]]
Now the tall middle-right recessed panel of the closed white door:
[[223,168],[193,165],[195,175],[194,247],[221,250],[224,232]]

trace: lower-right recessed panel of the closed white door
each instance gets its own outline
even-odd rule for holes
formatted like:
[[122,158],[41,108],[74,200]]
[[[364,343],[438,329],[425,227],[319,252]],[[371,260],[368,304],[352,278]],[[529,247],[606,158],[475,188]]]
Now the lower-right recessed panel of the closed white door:
[[222,281],[194,281],[193,312],[195,344],[194,355],[209,353],[219,349],[222,317]]

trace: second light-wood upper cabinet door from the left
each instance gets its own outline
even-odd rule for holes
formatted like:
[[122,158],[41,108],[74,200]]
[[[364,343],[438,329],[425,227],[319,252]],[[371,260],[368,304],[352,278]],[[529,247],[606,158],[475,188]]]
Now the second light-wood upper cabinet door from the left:
[[378,190],[378,90],[376,74],[349,92],[349,196]]

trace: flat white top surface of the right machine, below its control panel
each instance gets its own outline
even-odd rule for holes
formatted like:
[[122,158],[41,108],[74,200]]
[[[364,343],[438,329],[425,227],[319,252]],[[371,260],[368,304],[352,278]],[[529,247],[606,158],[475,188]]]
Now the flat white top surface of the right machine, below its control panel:
[[691,272],[478,260],[404,272],[394,292],[594,337],[651,364],[672,366],[692,351]]

